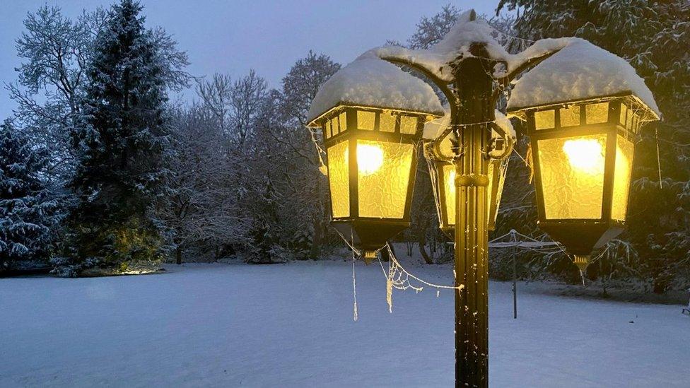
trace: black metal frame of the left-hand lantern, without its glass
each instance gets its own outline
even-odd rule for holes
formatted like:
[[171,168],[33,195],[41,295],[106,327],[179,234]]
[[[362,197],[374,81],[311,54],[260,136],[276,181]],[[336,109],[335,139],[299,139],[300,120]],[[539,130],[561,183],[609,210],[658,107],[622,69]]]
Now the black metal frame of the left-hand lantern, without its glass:
[[[361,128],[358,122],[360,117],[358,112],[370,112],[374,114],[373,128]],[[345,129],[342,129],[342,124],[340,124],[340,120],[338,119],[339,129],[337,133],[334,133],[332,128],[328,128],[328,126],[332,124],[332,120],[336,117],[342,117],[341,114],[343,113],[346,118]],[[392,131],[382,130],[382,114],[389,114],[395,118]],[[401,117],[410,117],[416,121],[414,123],[413,133],[402,130]],[[411,145],[411,163],[409,175],[407,177],[406,197],[402,218],[360,216],[360,195],[363,193],[360,193],[358,182],[359,168],[357,152],[347,153],[346,162],[348,163],[347,180],[349,192],[349,214],[347,216],[334,216],[334,193],[332,192],[331,184],[328,185],[330,202],[329,212],[332,226],[336,228],[346,240],[351,242],[352,245],[362,249],[363,252],[361,253],[366,260],[373,259],[373,257],[375,257],[375,252],[383,247],[387,240],[410,225],[414,181],[417,163],[419,161],[418,144],[419,141],[421,141],[421,132],[423,131],[424,124],[428,120],[436,117],[440,117],[440,114],[341,103],[310,122],[310,127],[320,127],[322,129],[324,146],[327,150],[345,141],[348,142],[347,149],[356,150],[357,142],[361,140]],[[327,165],[330,169],[330,161],[328,161]]]

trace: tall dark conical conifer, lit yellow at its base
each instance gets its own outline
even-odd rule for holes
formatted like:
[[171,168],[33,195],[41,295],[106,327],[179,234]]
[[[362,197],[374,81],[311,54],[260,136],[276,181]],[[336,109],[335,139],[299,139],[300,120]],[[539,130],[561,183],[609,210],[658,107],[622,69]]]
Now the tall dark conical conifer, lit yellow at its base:
[[96,38],[74,140],[71,257],[106,264],[158,259],[163,238],[153,216],[165,184],[170,79],[153,33],[133,0],[112,6]]

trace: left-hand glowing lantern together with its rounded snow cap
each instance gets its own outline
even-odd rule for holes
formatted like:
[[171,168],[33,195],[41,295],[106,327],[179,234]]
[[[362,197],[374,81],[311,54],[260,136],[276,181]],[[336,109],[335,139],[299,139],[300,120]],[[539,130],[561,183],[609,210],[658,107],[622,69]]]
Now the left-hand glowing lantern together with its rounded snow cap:
[[314,98],[308,127],[323,133],[332,225],[366,261],[409,226],[421,131],[442,112],[426,83],[366,55]]

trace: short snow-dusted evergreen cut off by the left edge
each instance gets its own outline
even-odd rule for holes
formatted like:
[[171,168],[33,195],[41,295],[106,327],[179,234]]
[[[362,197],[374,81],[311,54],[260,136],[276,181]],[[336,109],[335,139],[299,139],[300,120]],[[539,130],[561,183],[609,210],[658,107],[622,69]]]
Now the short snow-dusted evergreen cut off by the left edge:
[[57,201],[42,181],[47,163],[11,122],[0,125],[0,271],[49,252]]

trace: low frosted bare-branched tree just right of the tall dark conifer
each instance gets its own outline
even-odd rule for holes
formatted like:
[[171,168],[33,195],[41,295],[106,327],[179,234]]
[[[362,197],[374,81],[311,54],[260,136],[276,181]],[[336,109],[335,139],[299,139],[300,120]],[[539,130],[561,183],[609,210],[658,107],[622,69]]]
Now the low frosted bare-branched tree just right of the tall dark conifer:
[[247,220],[234,182],[235,160],[227,136],[213,112],[193,105],[172,120],[172,152],[166,165],[168,186],[158,214],[170,233],[175,261],[185,249],[214,249],[245,244]]

